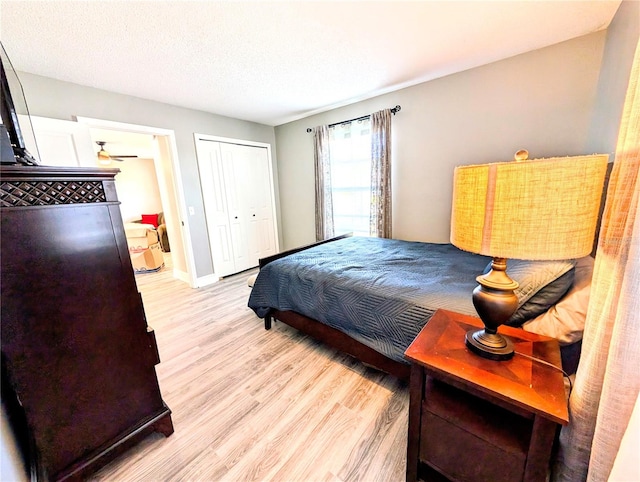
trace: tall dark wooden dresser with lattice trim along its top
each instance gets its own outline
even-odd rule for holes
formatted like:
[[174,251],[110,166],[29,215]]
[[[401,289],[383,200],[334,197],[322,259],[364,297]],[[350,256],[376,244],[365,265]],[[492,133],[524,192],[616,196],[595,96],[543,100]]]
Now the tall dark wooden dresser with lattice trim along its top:
[[173,433],[118,172],[0,168],[3,405],[38,480],[83,479],[151,431]]

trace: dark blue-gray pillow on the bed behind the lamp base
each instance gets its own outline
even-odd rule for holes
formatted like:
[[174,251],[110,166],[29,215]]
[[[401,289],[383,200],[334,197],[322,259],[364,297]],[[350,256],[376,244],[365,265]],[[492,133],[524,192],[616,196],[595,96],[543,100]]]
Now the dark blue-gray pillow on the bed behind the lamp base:
[[[555,305],[573,284],[575,264],[575,260],[507,260],[507,273],[520,286],[515,290],[518,309],[506,324],[520,326]],[[484,272],[490,269],[491,263]]]

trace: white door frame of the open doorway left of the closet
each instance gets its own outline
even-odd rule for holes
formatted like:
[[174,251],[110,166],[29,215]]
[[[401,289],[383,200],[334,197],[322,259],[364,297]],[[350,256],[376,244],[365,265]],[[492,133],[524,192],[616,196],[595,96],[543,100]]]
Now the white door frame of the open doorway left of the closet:
[[[138,124],[128,124],[123,122],[108,121],[103,119],[95,119],[91,117],[76,116],[76,120],[83,124],[87,124],[90,128],[109,129],[114,131],[124,131],[136,134],[151,134],[156,137],[164,137],[168,141],[169,146],[169,158],[167,161],[170,164],[170,172],[173,179],[169,179],[168,182],[173,185],[176,193],[175,201],[178,215],[180,219],[175,220],[175,224],[181,229],[178,229],[177,235],[181,237],[182,245],[184,247],[185,263],[187,272],[182,273],[174,269],[174,277],[189,283],[192,288],[197,288],[195,279],[195,261],[193,259],[193,248],[191,244],[191,234],[189,230],[189,217],[187,216],[187,207],[185,205],[184,190],[182,187],[182,173],[180,171],[180,163],[178,162],[178,147],[176,144],[175,132],[172,129],[163,129],[160,127],[143,126]],[[163,176],[161,166],[159,162],[163,162],[162,159],[154,158],[154,165],[156,173],[159,176]],[[159,177],[160,178],[160,177]],[[160,197],[163,203],[172,202],[171,199],[167,199],[170,196],[169,193],[164,192],[164,189],[160,189]],[[165,214],[166,217],[166,214]]]

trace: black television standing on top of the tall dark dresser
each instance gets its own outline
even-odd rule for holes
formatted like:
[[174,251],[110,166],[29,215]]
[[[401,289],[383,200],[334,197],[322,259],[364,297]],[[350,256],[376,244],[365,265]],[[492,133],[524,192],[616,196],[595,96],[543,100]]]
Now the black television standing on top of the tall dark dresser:
[[[0,102],[2,125],[0,126],[0,162],[2,164],[38,165],[38,161],[25,146],[18,114],[26,114],[29,119],[29,109],[24,97],[22,84],[18,78],[11,60],[0,42],[0,70],[2,74],[2,102]],[[13,97],[13,95],[15,97]],[[16,102],[14,102],[14,100]],[[30,132],[33,132],[33,128]],[[34,145],[35,139],[34,139]]]

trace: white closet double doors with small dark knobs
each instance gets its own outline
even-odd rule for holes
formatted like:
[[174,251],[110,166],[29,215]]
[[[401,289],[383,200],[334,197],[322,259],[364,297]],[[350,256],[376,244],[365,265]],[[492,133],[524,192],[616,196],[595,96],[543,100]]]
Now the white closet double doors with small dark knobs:
[[258,266],[278,251],[269,144],[196,136],[215,276]]

